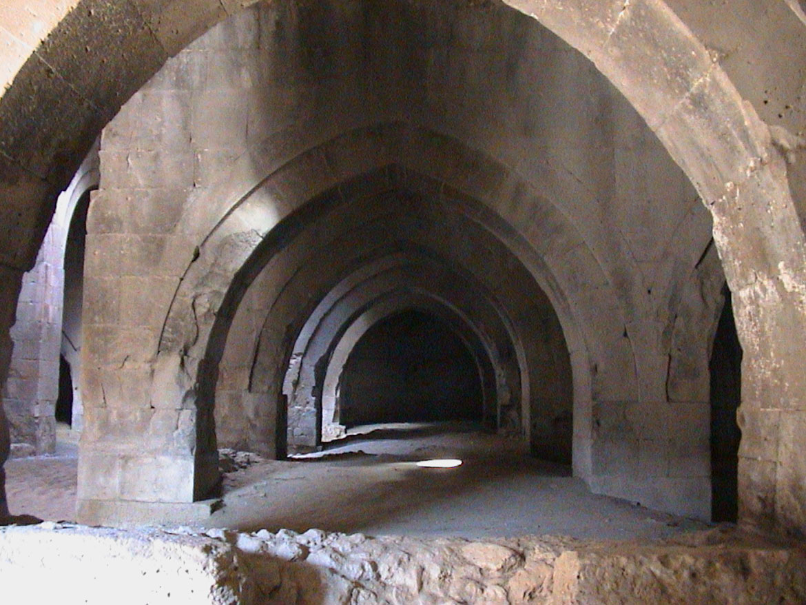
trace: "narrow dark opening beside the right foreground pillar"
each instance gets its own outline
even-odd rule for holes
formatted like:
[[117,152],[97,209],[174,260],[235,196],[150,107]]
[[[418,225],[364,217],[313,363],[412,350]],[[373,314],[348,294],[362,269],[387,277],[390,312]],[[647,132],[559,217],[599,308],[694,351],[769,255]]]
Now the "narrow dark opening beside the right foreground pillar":
[[730,291],[711,353],[711,515],[714,521],[736,521],[737,466],[742,432],[736,410],[742,400],[742,345],[733,322]]

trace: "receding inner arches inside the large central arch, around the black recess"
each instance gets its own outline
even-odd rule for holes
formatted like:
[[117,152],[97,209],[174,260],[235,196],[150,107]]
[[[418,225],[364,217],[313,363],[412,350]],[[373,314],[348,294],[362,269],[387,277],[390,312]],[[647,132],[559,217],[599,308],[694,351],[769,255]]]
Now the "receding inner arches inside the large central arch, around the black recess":
[[[330,207],[251,283],[220,361],[219,440],[285,453],[286,435],[292,450],[339,435],[336,391],[353,347],[381,319],[416,309],[450,326],[472,354],[485,426],[533,434],[536,449],[570,462],[571,367],[545,294],[513,252],[463,212],[470,202],[430,198],[427,179],[402,181],[400,173],[390,167],[361,177],[350,184],[349,202],[325,194]],[[258,310],[268,311],[255,330]],[[257,394],[261,406],[287,402],[280,405],[287,433],[243,424]],[[264,437],[275,432],[276,446]]]

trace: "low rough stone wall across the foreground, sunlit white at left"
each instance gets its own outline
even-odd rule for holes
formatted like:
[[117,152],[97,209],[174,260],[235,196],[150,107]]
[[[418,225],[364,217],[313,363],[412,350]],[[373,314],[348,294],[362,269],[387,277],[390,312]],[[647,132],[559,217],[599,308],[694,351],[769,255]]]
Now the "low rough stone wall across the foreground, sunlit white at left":
[[11,603],[804,603],[806,553],[736,532],[663,545],[46,523],[0,530]]

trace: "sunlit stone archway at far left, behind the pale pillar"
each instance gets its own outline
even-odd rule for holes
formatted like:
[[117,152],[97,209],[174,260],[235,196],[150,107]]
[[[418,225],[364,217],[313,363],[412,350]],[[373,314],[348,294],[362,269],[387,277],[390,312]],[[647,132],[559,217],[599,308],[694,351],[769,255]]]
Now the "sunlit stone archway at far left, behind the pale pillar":
[[[99,177],[95,145],[57,198],[36,264],[25,273],[12,332],[15,352],[2,390],[2,407],[10,419],[12,454],[18,456],[56,452],[55,412],[63,386],[69,385],[76,426],[81,427],[77,379],[85,223],[89,195],[98,188]],[[72,416],[68,414],[68,422]]]

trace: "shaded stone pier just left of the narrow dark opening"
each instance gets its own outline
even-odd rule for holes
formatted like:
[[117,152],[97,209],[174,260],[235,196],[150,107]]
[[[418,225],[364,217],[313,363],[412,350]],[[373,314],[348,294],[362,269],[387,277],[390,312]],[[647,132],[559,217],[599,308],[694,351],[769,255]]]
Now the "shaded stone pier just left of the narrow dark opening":
[[[609,373],[607,382],[601,373],[594,380],[588,485],[596,493],[709,520],[708,359],[686,353],[692,372],[706,378],[706,389],[680,392],[669,380],[665,328],[671,332],[671,327],[651,319],[625,326],[624,339],[634,357],[634,398],[612,397],[619,393],[619,382],[629,377],[628,367]],[[707,338],[704,332],[699,334],[700,340]],[[627,390],[621,392],[629,395]]]

